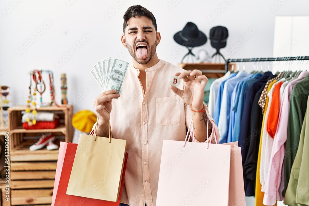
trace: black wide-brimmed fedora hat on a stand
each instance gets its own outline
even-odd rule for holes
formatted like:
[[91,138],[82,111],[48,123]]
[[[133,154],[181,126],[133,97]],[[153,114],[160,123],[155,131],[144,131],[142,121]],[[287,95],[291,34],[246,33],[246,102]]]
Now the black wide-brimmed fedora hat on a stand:
[[183,46],[197,47],[205,44],[207,37],[194,23],[188,22],[182,31],[174,35],[174,40]]

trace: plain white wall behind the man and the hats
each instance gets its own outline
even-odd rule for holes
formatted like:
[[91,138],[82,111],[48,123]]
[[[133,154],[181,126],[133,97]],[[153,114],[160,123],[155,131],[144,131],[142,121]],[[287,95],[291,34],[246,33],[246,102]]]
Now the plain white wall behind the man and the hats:
[[[173,35],[182,30],[188,21],[196,23],[207,37],[212,27],[227,27],[227,46],[221,50],[226,57],[272,57],[275,16],[309,15],[309,2],[305,0],[71,1],[0,1],[0,84],[11,86],[11,106],[25,104],[28,72],[45,69],[54,72],[57,102],[61,101],[60,75],[66,73],[68,101],[74,103],[74,112],[82,109],[93,111],[93,100],[101,92],[98,85],[91,86],[94,82],[90,74],[93,65],[104,57],[131,62],[120,37],[123,13],[132,5],[141,4],[155,15],[162,37],[157,48],[158,56],[174,64],[180,62],[186,49],[176,44]],[[50,25],[45,24],[46,27],[41,29],[46,21]],[[38,29],[44,30],[42,34],[38,35]],[[248,33],[250,30],[251,34]],[[85,34],[90,37],[77,50],[74,44],[82,40]],[[244,39],[243,35],[248,38]],[[35,41],[19,53],[17,50],[31,37]],[[235,49],[235,45],[240,47]],[[215,52],[209,40],[205,45],[194,48],[193,53],[200,49],[206,49],[210,54]],[[56,63],[70,50],[74,54],[57,68]],[[49,81],[46,79],[46,82]],[[249,201],[248,206],[254,205],[253,201]]]

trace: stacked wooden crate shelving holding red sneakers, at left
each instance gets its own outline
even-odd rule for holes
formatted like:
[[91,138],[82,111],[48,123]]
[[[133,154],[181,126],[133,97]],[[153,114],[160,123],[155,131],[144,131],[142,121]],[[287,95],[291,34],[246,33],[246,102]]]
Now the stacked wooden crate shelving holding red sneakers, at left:
[[[59,150],[46,148],[30,151],[29,146],[37,140],[26,137],[39,136],[45,132],[52,132],[60,141],[71,142],[73,139],[73,106],[40,107],[37,111],[52,111],[60,117],[61,125],[55,129],[23,129],[21,123],[22,111],[26,107],[9,108],[10,132],[10,189],[11,203],[9,205],[51,205],[54,179]],[[38,139],[37,138],[37,139]]]

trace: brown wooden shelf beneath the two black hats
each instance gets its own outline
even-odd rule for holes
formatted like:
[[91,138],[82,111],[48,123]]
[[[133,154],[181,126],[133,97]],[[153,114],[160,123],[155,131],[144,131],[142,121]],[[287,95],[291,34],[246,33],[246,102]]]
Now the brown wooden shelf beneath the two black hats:
[[[231,70],[233,64],[229,64],[229,70]],[[225,74],[225,64],[216,64],[216,63],[199,63],[199,64],[185,64],[180,63],[179,67],[185,70],[198,69],[201,70],[203,75],[207,78],[220,78]],[[234,65],[235,68],[235,65]]]

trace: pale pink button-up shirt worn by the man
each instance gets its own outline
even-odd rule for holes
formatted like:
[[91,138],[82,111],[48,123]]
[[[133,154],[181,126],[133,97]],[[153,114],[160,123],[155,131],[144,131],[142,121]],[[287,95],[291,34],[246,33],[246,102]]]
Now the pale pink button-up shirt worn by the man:
[[[128,68],[121,96],[112,100],[110,114],[112,137],[127,140],[129,157],[121,203],[130,206],[156,205],[163,140],[184,141],[192,119],[189,106],[169,88],[170,78],[185,70],[160,60],[145,71],[144,94],[139,70],[133,65]],[[183,89],[183,81],[177,87]],[[208,118],[218,139],[218,128],[210,115]],[[210,137],[214,140],[214,134]]]

